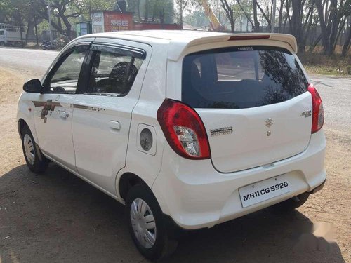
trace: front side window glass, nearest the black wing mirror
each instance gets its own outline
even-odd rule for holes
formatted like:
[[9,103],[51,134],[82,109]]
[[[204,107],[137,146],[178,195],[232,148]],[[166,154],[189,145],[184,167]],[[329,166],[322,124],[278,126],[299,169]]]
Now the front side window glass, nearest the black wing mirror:
[[86,48],[77,48],[69,53],[51,77],[48,90],[53,93],[76,93],[81,66],[87,52]]

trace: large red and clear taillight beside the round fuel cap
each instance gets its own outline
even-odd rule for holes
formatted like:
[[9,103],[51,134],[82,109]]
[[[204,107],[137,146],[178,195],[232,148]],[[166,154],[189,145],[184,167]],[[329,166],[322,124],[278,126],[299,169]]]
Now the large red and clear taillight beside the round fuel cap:
[[194,109],[166,99],[157,111],[157,121],[168,144],[177,154],[187,159],[210,158],[204,123]]

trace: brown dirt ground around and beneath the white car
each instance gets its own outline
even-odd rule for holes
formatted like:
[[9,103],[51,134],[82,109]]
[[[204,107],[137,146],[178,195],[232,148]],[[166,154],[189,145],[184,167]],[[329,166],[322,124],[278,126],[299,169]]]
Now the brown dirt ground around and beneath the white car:
[[[15,114],[26,77],[0,67],[0,263],[146,262],[122,205],[54,164],[25,166]],[[166,262],[351,262],[351,130],[324,130],[327,182],[302,208],[194,231]]]

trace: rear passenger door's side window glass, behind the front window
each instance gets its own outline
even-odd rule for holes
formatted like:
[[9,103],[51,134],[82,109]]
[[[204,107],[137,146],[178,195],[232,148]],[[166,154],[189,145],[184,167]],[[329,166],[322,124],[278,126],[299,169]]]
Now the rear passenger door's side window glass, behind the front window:
[[127,95],[143,63],[132,54],[94,51],[86,94]]

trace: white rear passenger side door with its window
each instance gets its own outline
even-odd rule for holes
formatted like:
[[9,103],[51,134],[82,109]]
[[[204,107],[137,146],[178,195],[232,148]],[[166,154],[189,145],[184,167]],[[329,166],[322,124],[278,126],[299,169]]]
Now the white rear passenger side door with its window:
[[151,47],[117,39],[95,39],[84,93],[74,102],[73,140],[79,174],[116,194],[125,166],[131,112],[140,95]]

